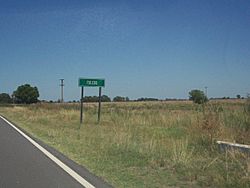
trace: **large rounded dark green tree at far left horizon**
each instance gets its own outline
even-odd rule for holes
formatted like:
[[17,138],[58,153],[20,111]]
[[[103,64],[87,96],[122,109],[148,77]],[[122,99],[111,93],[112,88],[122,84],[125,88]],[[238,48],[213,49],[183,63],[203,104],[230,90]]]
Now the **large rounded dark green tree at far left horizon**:
[[32,87],[29,84],[25,84],[19,86],[17,90],[13,92],[13,97],[16,103],[37,103],[39,91],[37,87]]

